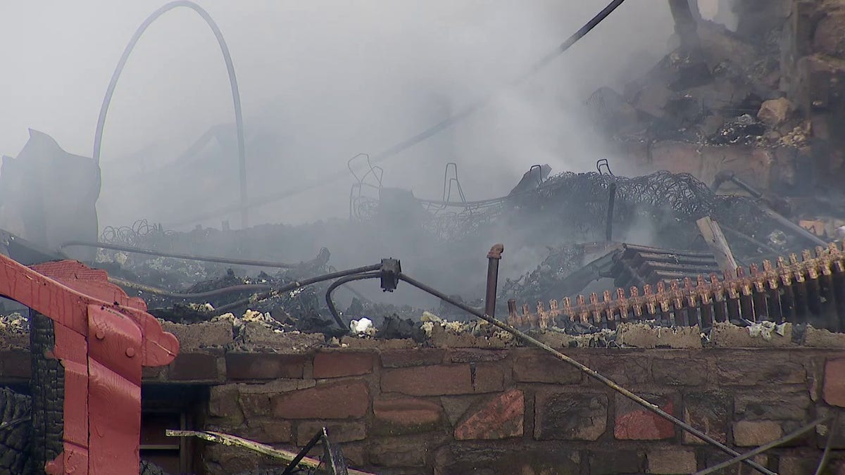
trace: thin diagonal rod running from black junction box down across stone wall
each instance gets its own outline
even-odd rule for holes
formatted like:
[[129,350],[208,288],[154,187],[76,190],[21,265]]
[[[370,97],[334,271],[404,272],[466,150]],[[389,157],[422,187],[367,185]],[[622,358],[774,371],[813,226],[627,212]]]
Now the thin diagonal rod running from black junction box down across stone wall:
[[[614,383],[612,380],[602,376],[602,374],[599,374],[596,370],[591,369],[591,368],[587,367],[586,365],[584,365],[583,363],[580,363],[580,362],[576,361],[575,359],[564,355],[564,353],[559,352],[558,350],[555,350],[553,347],[549,347],[547,344],[543,343],[542,341],[539,341],[539,340],[533,338],[532,336],[529,336],[526,333],[515,329],[514,327],[512,327],[510,325],[504,324],[501,321],[499,321],[499,319],[495,319],[494,317],[492,317],[488,314],[482,314],[476,308],[472,308],[472,307],[470,307],[470,306],[468,306],[464,303],[458,302],[455,299],[450,298],[448,295],[444,294],[443,292],[439,292],[437,289],[434,289],[433,287],[428,287],[427,285],[423,284],[423,282],[416,281],[416,280],[412,279],[411,277],[406,276],[405,274],[399,274],[399,279],[401,281],[406,281],[408,284],[412,285],[413,287],[417,287],[418,289],[422,290],[423,292],[428,292],[431,295],[433,295],[434,297],[440,298],[444,302],[451,303],[455,307],[461,308],[461,310],[464,310],[465,312],[467,312],[469,314],[473,314],[476,317],[478,317],[479,319],[482,319],[482,320],[488,322],[491,325],[494,325],[494,326],[499,327],[500,329],[502,329],[504,331],[507,331],[511,335],[516,336],[517,338],[521,339],[522,341],[525,341],[529,345],[532,345],[533,347],[540,348],[541,350],[552,354],[555,358],[558,358],[558,359],[564,361],[565,363],[569,363],[570,365],[575,366],[575,368],[579,369],[581,371],[581,373],[586,374],[587,376],[591,377],[592,379],[597,379],[603,385],[607,385],[609,388],[619,392],[623,396],[629,398],[631,401],[635,401],[640,406],[645,407],[648,411],[654,412],[655,414],[657,414],[661,418],[668,420],[669,422],[671,422],[674,425],[680,427],[681,429],[684,429],[687,432],[689,432],[690,434],[695,435],[699,439],[706,441],[708,444],[713,445],[714,447],[717,447],[719,450],[722,450],[723,452],[727,453],[728,455],[739,456],[738,451],[733,450],[730,447],[728,447],[727,445],[722,444],[718,440],[713,439],[710,435],[704,433],[703,431],[701,431],[699,429],[695,429],[690,424],[684,423],[684,421],[680,420],[679,418],[674,417],[672,414],[669,414],[666,411],[663,411],[660,407],[657,407],[656,405],[651,404],[651,402],[646,401],[641,396],[635,395],[630,390],[626,390],[624,387],[622,387],[622,386]],[[759,472],[766,473],[766,475],[777,475],[777,473],[772,472],[771,470],[767,469],[766,467],[761,466],[759,463],[757,463],[755,461],[751,461],[751,460],[746,459],[746,460],[743,460],[743,463],[745,463],[746,465],[749,465],[750,467],[754,467],[755,470],[757,470]]]

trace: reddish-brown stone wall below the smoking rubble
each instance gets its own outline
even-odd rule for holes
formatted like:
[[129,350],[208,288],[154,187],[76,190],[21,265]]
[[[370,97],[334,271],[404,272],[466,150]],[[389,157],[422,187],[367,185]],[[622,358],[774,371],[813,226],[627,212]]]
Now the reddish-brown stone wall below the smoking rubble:
[[[213,337],[216,326],[169,329],[183,351],[145,379],[211,385],[205,429],[292,449],[325,426],[353,467],[378,473],[689,473],[726,458],[532,348],[314,348],[296,335],[238,347],[225,327]],[[722,343],[741,343],[743,332],[722,332]],[[644,348],[558,347],[740,451],[845,407],[842,350],[777,335],[746,339],[760,346],[750,349],[665,336],[661,344],[653,333],[658,340],[641,338]],[[785,475],[811,473],[825,443],[811,432],[757,460]],[[833,462],[845,469],[845,428],[833,443]],[[207,445],[204,463],[236,473],[270,461]]]

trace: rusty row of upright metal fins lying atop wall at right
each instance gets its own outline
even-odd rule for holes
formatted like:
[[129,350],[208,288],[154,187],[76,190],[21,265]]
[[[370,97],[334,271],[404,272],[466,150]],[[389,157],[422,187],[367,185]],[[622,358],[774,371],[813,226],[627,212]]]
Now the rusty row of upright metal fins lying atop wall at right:
[[536,310],[528,304],[522,314],[511,312],[514,325],[570,327],[575,323],[592,328],[615,328],[619,323],[653,320],[657,325],[699,325],[709,328],[714,323],[731,322],[744,325],[769,320],[776,323],[810,324],[816,328],[840,331],[845,328],[845,252],[842,244],[816,248],[789,259],[780,258],[777,266],[763,261],[762,269],[751,265],[746,274],[739,267],[734,275],[720,281],[715,273],[658,281],[657,288],[645,285],[631,287],[630,293],[618,288],[613,295],[605,291],[602,300],[597,293],[589,298],[579,295],[575,304],[564,298]]

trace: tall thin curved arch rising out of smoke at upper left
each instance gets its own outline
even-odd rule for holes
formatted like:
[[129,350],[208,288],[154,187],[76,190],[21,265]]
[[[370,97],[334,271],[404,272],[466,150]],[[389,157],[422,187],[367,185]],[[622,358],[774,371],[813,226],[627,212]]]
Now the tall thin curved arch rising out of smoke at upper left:
[[139,39],[141,38],[141,35],[143,35],[144,31],[147,30],[147,27],[149,27],[161,15],[166,14],[168,11],[179,7],[191,8],[192,10],[194,10],[194,12],[199,14],[202,19],[205,20],[205,23],[209,25],[209,28],[214,33],[215,38],[217,39],[217,43],[218,45],[220,45],[220,51],[223,53],[223,60],[226,62],[226,70],[229,73],[229,85],[232,86],[232,101],[235,105],[235,126],[237,128],[237,159],[240,172],[241,188],[241,225],[242,227],[247,227],[247,159],[243,139],[243,114],[241,112],[241,94],[240,91],[237,89],[235,67],[232,64],[232,56],[229,54],[229,47],[226,46],[226,40],[223,39],[223,34],[221,33],[220,28],[217,26],[214,19],[211,19],[211,15],[206,12],[204,8],[200,7],[194,2],[188,2],[187,0],[177,0],[176,2],[166,3],[166,5],[155,10],[155,12],[150,14],[147,19],[144,19],[144,23],[142,23],[138,27],[138,30],[135,30],[135,34],[132,35],[132,38],[129,40],[129,43],[126,46],[126,49],[123,50],[123,55],[120,57],[120,61],[117,62],[117,67],[114,69],[114,73],[112,73],[112,80],[109,81],[108,89],[106,90],[106,96],[103,97],[103,103],[100,107],[100,117],[97,118],[97,128],[94,134],[94,161],[95,163],[97,163],[97,165],[100,164],[100,148],[103,138],[103,128],[106,125],[106,114],[108,113],[108,106],[112,102],[112,96],[114,95],[114,90],[117,87],[117,79],[120,78],[120,74],[123,72],[123,67],[126,66],[129,54],[132,52],[133,48],[135,47],[135,44],[138,43]]

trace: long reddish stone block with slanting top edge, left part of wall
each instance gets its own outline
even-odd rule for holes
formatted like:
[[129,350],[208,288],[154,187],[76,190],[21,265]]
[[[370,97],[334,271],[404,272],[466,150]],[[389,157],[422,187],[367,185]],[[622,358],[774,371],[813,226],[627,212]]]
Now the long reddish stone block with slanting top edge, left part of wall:
[[370,405],[369,389],[363,381],[343,381],[271,396],[270,404],[276,418],[363,418]]

